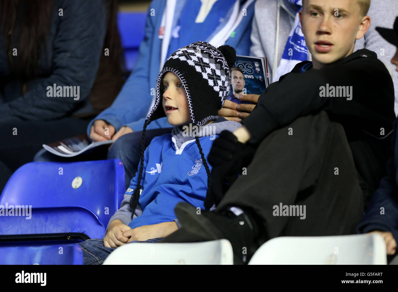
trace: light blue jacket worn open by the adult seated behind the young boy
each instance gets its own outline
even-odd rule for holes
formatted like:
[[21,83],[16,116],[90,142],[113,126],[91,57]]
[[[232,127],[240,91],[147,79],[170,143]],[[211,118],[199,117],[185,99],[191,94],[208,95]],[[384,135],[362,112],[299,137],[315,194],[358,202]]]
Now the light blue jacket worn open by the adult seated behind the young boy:
[[[244,1],[241,0],[241,2]],[[254,3],[252,2],[248,6],[246,11],[247,16],[242,18],[234,33],[231,34],[225,43],[233,46],[238,55],[247,56],[250,51],[250,33],[252,29],[252,17],[254,15]],[[139,57],[135,68],[113,104],[90,122],[87,128],[88,135],[90,135],[92,123],[100,119],[112,124],[116,131],[122,126],[129,126],[133,131],[142,130],[146,114],[154,97],[154,87],[159,74],[162,39],[159,39],[158,31],[161,26],[165,7],[166,1],[164,0],[153,0],[151,2],[148,8],[148,16],[146,17],[145,37],[140,44]],[[155,12],[154,15],[153,12]],[[229,14],[230,11],[225,17],[224,22],[228,21]],[[215,33],[222,29],[225,24],[224,22],[217,27]],[[212,36],[209,36],[209,39]],[[209,39],[203,41],[209,41]],[[147,130],[168,127],[170,125],[167,123],[167,119],[161,118],[152,122]]]

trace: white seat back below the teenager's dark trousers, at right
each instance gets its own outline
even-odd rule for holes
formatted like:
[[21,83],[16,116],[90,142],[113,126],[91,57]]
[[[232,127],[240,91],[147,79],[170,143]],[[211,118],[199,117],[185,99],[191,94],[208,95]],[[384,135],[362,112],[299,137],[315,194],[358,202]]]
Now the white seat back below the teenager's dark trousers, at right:
[[379,234],[285,236],[265,242],[249,265],[386,265]]

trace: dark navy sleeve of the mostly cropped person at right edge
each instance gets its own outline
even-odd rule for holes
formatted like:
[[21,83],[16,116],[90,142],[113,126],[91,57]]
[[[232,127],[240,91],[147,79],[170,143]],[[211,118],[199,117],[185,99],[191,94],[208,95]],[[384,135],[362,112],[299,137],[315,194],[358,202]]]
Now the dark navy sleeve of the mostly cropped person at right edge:
[[398,242],[398,131],[395,120],[392,132],[392,156],[387,162],[387,175],[382,178],[378,189],[373,193],[371,203],[361,222],[358,233],[373,230],[388,231]]

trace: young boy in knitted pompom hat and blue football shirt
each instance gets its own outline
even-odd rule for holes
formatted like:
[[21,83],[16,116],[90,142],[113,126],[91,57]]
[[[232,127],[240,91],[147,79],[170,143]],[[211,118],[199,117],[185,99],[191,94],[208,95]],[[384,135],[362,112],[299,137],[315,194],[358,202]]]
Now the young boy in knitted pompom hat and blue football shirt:
[[[179,227],[174,207],[179,202],[211,209],[207,195],[210,168],[205,156],[217,135],[240,124],[218,117],[229,93],[229,67],[235,62],[230,46],[218,49],[196,42],[166,60],[156,83],[155,104],[142,131],[153,120],[167,116],[175,128],[142,146],[139,171],[131,180],[121,208],[111,217],[103,240],[82,242],[84,264],[101,264],[123,244],[157,242]],[[203,167],[202,167],[203,166]],[[203,169],[205,168],[205,169]],[[143,184],[142,184],[143,182]]]

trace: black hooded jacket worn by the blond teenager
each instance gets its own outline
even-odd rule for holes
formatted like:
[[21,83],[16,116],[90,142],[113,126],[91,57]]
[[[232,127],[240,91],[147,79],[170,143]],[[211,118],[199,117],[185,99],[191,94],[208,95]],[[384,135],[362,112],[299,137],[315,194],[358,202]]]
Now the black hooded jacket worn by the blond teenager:
[[[297,64],[292,72],[269,85],[242,124],[252,141],[258,142],[300,116],[325,110],[330,120],[343,126],[360,180],[365,181],[362,188],[369,196],[384,176],[389,157],[388,134],[395,120],[391,76],[376,53],[366,49],[326,68],[300,73],[307,63]],[[352,99],[322,97],[322,86],[352,86]]]

